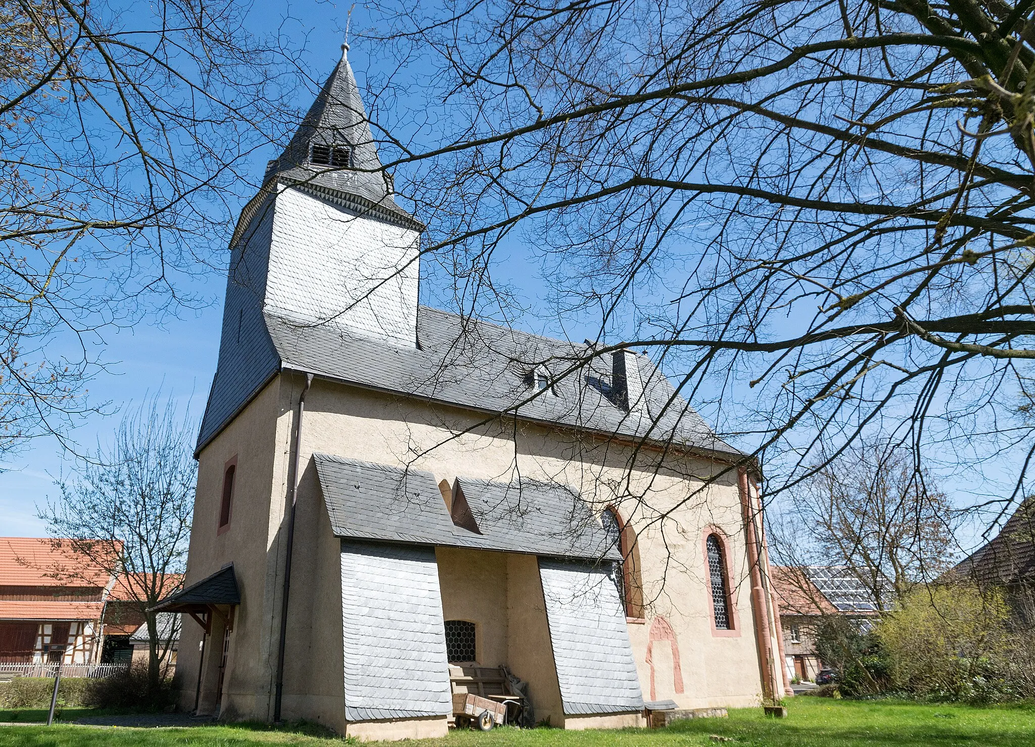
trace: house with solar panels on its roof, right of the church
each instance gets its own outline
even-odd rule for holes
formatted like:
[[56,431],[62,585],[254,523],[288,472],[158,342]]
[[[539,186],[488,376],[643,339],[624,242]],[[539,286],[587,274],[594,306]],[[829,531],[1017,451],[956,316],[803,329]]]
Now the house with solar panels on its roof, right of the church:
[[771,578],[791,678],[811,681],[824,668],[816,651],[816,631],[824,617],[842,615],[866,630],[878,611],[873,594],[847,566],[773,566]]

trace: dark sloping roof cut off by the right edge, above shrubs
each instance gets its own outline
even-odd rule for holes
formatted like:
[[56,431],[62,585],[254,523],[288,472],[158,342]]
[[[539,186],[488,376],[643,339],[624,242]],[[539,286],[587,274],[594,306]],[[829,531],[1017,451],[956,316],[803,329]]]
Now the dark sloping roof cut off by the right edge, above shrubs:
[[954,570],[996,586],[1035,581],[1035,499],[1022,503],[999,534]]

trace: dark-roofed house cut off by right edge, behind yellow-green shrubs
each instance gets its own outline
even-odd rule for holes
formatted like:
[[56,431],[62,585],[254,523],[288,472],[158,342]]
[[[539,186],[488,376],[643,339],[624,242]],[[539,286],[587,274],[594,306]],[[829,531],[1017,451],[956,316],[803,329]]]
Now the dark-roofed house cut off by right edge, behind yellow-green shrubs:
[[1035,624],[1035,498],[1025,500],[999,534],[953,571],[982,586],[1001,587],[1014,614]]

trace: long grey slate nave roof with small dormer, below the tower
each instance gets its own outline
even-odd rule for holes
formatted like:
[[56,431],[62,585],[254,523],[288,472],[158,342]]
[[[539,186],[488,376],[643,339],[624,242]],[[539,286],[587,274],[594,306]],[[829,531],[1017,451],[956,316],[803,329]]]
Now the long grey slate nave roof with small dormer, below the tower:
[[[272,351],[253,363],[253,370],[267,374],[227,388],[219,387],[218,381],[213,383],[199,449],[218,431],[223,424],[219,420],[229,420],[235,411],[233,404],[246,402],[279,362],[286,368],[349,384],[486,413],[511,412],[529,420],[608,436],[648,438],[731,456],[741,454],[715,436],[645,355],[635,356],[644,394],[630,413],[609,398],[605,383],[611,378],[610,361],[599,358],[557,380],[553,386],[556,394],[533,397],[528,377],[537,363],[543,362],[559,377],[574,361],[587,357],[588,348],[583,345],[527,334],[428,306],[421,306],[417,315],[419,349],[352,335],[332,325],[303,325],[268,312],[262,315],[262,321]],[[256,350],[265,350],[265,346],[254,347],[252,353]],[[228,376],[233,374],[228,371]]]

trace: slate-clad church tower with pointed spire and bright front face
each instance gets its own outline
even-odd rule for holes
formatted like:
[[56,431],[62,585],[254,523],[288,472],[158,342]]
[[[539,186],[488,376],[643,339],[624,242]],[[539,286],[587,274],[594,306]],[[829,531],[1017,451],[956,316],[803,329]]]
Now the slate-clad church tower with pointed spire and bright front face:
[[199,450],[291,363],[271,340],[272,328],[282,338],[327,327],[343,338],[416,348],[423,226],[395,204],[348,46],[342,51],[241,211]]

